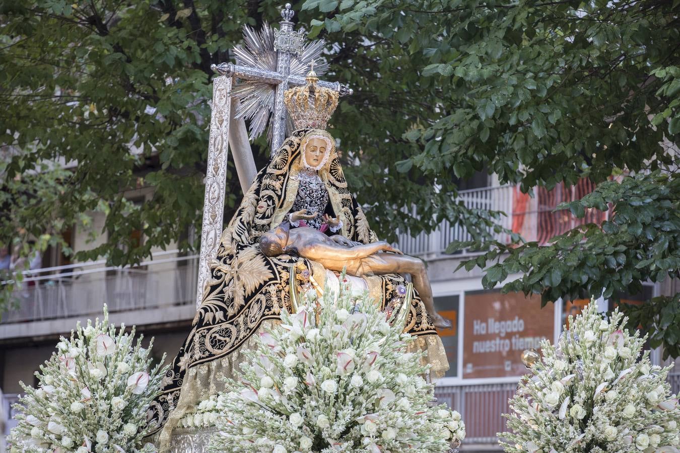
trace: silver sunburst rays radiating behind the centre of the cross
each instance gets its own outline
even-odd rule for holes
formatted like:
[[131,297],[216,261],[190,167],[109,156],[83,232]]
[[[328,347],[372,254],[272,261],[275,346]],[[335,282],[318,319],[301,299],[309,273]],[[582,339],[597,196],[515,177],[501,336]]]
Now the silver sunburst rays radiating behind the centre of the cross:
[[[267,72],[277,71],[277,52],[275,49],[275,29],[265,23],[260,31],[250,26],[243,27],[243,46],[234,48],[236,64],[239,66],[260,69]],[[295,33],[295,32],[294,32]],[[301,32],[295,33],[296,35]],[[298,41],[299,42],[299,41]],[[316,61],[324,50],[324,41],[318,39],[301,43],[298,52],[290,52],[290,75],[305,77],[309,65],[314,60],[314,71],[323,75],[328,71],[328,62]],[[271,126],[275,109],[275,84],[261,80],[239,79],[233,93],[239,98],[237,117],[250,122],[250,139],[260,137],[267,126]],[[292,131],[290,118],[286,124],[286,134]],[[273,128],[269,127],[267,139],[272,141]]]

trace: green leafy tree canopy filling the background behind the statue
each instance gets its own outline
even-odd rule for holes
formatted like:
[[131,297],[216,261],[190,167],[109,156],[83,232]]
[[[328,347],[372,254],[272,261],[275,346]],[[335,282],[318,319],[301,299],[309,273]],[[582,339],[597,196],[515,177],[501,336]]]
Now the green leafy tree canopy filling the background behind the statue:
[[[520,273],[505,289],[541,293],[545,301],[579,289],[615,296],[677,276],[679,0],[299,6],[311,37],[333,49],[326,77],[355,90],[342,99],[332,132],[360,156],[360,166],[346,163],[347,177],[383,236],[431,230],[445,218],[460,222],[475,243],[449,251],[485,251],[472,266],[488,268],[488,287]],[[0,143],[18,152],[0,168],[9,213],[0,217],[1,240],[19,231],[57,241],[63,225],[102,211],[107,241],[76,257],[130,264],[198,227],[209,65],[230,57],[242,24],[277,22],[279,7],[257,0],[4,5]],[[257,144],[263,162],[265,144]],[[56,159],[78,166],[61,175],[34,171]],[[589,178],[600,183],[596,192],[564,209],[608,210],[611,221],[548,247],[507,247],[492,240],[498,213],[455,200],[456,181],[478,171],[525,192]],[[229,181],[233,206],[233,172]],[[123,189],[139,185],[156,187],[152,202],[124,199]],[[413,204],[416,217],[405,213]],[[143,231],[143,244],[130,239],[133,230]],[[658,329],[654,340],[675,355],[680,332],[663,331],[675,314],[662,317],[680,313],[678,297],[636,310],[636,320]]]

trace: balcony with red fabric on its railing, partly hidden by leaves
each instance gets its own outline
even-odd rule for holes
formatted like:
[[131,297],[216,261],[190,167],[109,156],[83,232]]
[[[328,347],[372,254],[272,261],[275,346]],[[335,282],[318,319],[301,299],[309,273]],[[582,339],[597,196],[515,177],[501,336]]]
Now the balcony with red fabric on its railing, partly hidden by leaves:
[[[579,225],[602,223],[609,218],[609,212],[602,213],[596,210],[586,212],[583,219],[577,219],[569,211],[554,212],[558,204],[579,200],[594,188],[592,182],[582,179],[577,185],[560,184],[552,190],[536,187],[532,198],[522,194],[517,186],[502,185],[462,190],[458,192],[458,200],[469,209],[501,211],[506,214],[498,220],[501,227],[519,233],[529,242],[547,244],[550,238]],[[505,233],[492,236],[499,242],[509,242],[509,236]],[[445,220],[430,234],[421,232],[412,237],[409,232],[400,233],[396,243],[407,255],[431,260],[451,257],[444,254],[448,244],[468,240],[472,240],[472,237],[462,225],[452,225]],[[462,251],[456,256],[469,254],[469,251]]]

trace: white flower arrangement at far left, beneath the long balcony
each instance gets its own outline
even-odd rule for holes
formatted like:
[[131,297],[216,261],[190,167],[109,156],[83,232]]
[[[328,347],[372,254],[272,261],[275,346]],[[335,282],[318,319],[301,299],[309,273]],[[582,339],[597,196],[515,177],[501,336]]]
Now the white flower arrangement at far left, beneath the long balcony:
[[145,349],[143,337],[133,344],[134,337],[134,327],[125,333],[121,325],[116,332],[106,306],[101,323],[78,323],[71,338],[62,337],[35,373],[39,386],[20,382],[26,395],[14,405],[19,414],[8,437],[10,452],[155,452],[142,439],[152,429],[147,411],[167,367],[148,371],[153,339]]

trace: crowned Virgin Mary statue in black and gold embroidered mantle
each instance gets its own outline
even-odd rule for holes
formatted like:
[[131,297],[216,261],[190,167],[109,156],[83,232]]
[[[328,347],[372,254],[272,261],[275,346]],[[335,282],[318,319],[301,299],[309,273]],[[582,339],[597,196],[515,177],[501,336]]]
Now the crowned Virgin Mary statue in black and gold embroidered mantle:
[[[317,86],[317,80],[311,71],[307,86],[286,91],[297,130],[258,173],[222,234],[192,329],[165,376],[162,395],[152,404],[161,451],[178,420],[203,399],[225,391],[225,377],[238,375],[243,348],[251,348],[265,327],[279,323],[284,307],[292,310],[290,284],[297,292],[311,288],[310,283],[339,285],[335,274],[314,261],[263,255],[262,234],[288,220],[292,225],[305,222],[340,243],[377,240],[347,188],[335,139],[325,130],[337,107],[337,92]],[[397,274],[357,280],[383,309],[403,297],[405,280]],[[412,348],[428,352],[430,374],[443,376],[449,367],[444,348],[419,297],[413,298],[407,331],[416,337]]]

